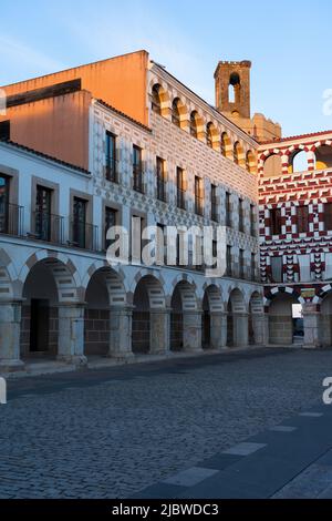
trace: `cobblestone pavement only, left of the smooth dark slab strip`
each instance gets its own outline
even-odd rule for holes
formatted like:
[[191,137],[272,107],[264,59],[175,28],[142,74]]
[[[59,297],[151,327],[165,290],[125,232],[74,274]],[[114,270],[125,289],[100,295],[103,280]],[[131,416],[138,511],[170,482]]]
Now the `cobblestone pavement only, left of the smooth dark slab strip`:
[[129,498],[321,402],[329,369],[255,349],[10,381],[0,498]]

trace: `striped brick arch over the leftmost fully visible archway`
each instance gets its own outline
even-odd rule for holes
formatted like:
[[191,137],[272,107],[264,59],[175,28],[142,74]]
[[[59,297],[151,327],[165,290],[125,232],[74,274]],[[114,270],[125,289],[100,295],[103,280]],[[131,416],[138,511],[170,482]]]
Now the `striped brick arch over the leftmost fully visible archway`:
[[82,302],[84,289],[77,270],[69,257],[58,252],[41,249],[28,258],[19,275],[22,288],[32,268],[39,263],[45,264],[51,270],[58,289],[59,303]]

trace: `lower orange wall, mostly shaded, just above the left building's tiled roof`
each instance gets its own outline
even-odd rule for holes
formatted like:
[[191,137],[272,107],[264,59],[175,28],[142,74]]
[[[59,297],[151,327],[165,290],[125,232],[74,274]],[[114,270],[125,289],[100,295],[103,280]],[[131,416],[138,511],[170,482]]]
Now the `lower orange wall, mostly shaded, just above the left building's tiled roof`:
[[10,139],[59,160],[89,168],[90,92],[13,106],[2,120],[10,120]]

